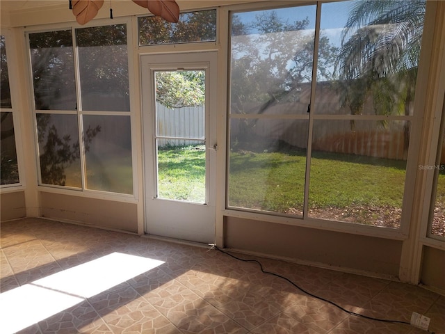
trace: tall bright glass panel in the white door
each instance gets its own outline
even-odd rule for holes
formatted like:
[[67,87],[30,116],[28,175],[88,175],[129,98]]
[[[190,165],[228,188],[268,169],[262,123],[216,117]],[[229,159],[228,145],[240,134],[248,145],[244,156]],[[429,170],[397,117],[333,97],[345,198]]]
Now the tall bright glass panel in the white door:
[[205,203],[205,71],[158,71],[154,79],[157,196]]

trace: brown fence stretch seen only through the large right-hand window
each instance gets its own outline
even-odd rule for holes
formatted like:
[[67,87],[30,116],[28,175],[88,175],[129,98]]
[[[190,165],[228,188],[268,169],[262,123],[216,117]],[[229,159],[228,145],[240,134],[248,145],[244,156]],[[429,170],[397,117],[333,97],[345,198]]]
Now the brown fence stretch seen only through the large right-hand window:
[[[393,122],[387,127],[372,120],[356,123],[356,129],[351,129],[349,120],[316,120],[312,131],[312,150],[406,159],[408,143],[405,141],[406,136],[409,137],[409,129],[405,129],[403,122]],[[239,148],[250,147],[249,141],[252,140],[266,143],[270,148],[279,148],[280,143],[287,147],[307,148],[308,120],[267,118],[247,124],[240,127],[242,119],[232,121],[230,135],[232,141],[240,141]]]

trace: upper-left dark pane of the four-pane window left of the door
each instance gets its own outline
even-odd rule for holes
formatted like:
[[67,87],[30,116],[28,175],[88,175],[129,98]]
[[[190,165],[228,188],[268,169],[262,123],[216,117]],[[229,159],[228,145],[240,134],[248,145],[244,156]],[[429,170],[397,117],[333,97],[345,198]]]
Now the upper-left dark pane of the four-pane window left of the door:
[[37,110],[76,110],[70,30],[29,34]]

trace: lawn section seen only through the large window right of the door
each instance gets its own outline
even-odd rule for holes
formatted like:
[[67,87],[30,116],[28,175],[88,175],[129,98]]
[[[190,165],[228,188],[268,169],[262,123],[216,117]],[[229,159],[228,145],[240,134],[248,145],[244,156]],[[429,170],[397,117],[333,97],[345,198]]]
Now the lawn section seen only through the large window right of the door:
[[[315,152],[309,207],[391,205],[401,207],[405,163]],[[302,208],[306,159],[303,154],[232,152],[230,205],[273,212]]]

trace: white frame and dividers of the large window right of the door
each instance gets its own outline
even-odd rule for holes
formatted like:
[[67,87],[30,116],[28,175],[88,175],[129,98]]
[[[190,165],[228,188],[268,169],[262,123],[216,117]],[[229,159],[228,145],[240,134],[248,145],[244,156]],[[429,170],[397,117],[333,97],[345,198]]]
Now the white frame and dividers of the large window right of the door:
[[[321,20],[321,5],[323,2],[330,2],[330,1],[292,1],[289,3],[289,1],[273,1],[273,3],[270,3],[270,1],[267,1],[266,3],[246,3],[242,5],[233,5],[233,6],[227,6],[224,8],[225,15],[227,15],[228,19],[227,22],[229,22],[229,17],[231,12],[245,12],[245,11],[253,11],[253,10],[268,10],[268,9],[275,9],[275,8],[283,8],[288,6],[306,6],[306,5],[317,5],[317,14],[316,14],[316,30],[315,34],[319,34],[319,26],[320,26],[320,20]],[[430,1],[428,1],[430,2]],[[431,6],[430,6],[431,7]],[[428,8],[428,6],[427,6]],[[432,20],[432,14],[434,8],[431,8],[429,11],[427,9],[426,11],[426,17],[425,22],[427,19],[429,21]],[[430,13],[430,15],[428,15]],[[425,24],[423,29],[423,35],[432,35],[432,30],[434,29],[435,22],[429,22],[429,24]],[[230,57],[230,23],[228,26],[227,31],[227,55]],[[426,49],[421,54],[421,59],[419,61],[419,74],[417,77],[417,83],[416,83],[416,99],[414,100],[414,115],[413,116],[385,116],[385,120],[410,120],[412,125],[412,131],[410,134],[410,147],[408,149],[408,156],[407,156],[407,168],[406,168],[406,174],[405,174],[405,188],[404,188],[404,196],[403,196],[403,211],[402,211],[402,217],[401,217],[401,227],[398,229],[392,229],[392,228],[381,228],[378,226],[373,225],[361,225],[357,223],[346,223],[342,221],[328,221],[324,219],[318,219],[318,218],[310,218],[307,217],[307,189],[308,187],[305,187],[305,209],[303,210],[305,212],[305,216],[303,218],[300,217],[291,217],[291,216],[279,216],[275,214],[270,214],[269,212],[249,212],[246,209],[236,209],[234,207],[227,207],[228,203],[228,178],[229,178],[229,170],[227,167],[226,170],[226,180],[225,180],[225,189],[226,189],[226,206],[225,209],[223,209],[223,214],[225,216],[230,216],[234,218],[246,218],[246,219],[252,219],[256,221],[267,221],[272,223],[280,223],[285,225],[295,225],[295,226],[301,226],[301,227],[307,227],[307,228],[317,228],[321,230],[330,230],[330,231],[338,231],[338,232],[347,232],[352,234],[360,234],[360,235],[366,235],[371,237],[381,237],[385,239],[394,239],[394,240],[405,240],[410,237],[410,221],[412,216],[412,204],[414,201],[414,180],[416,177],[416,168],[417,168],[417,154],[419,153],[419,150],[417,148],[417,145],[413,145],[413,143],[418,143],[420,141],[421,136],[421,122],[423,119],[422,111],[423,111],[423,102],[426,97],[426,87],[423,85],[425,81],[428,80],[428,57],[430,56],[431,48],[428,48],[428,39],[423,38],[422,40],[422,49]],[[316,38],[315,40],[316,45],[314,45],[314,64],[317,61],[318,56],[318,40]],[[426,45],[426,48],[424,47]],[[230,63],[227,66],[228,71],[230,71]],[[313,80],[312,85],[316,85],[316,71],[313,72]],[[423,83],[423,84],[422,84]],[[230,91],[230,78],[227,78],[227,91]],[[314,91],[314,88],[313,90]],[[311,104],[314,105],[314,100],[316,97],[315,94],[312,94],[311,96]],[[229,96],[229,93],[227,94]],[[420,98],[419,98],[420,97]],[[229,108],[229,101],[227,102],[227,108]],[[229,114],[227,115],[227,124],[229,124],[230,119],[232,116]],[[236,118],[237,116],[235,116]],[[353,119],[354,116],[350,115],[321,115],[321,114],[312,114],[309,116],[309,122],[313,122],[314,120],[341,120],[341,119]],[[379,116],[360,116],[359,120],[378,120],[380,119]],[[228,129],[228,125],[227,125]],[[310,126],[309,126],[310,129]],[[227,136],[227,145],[229,145],[229,135]],[[308,138],[312,140],[312,133],[309,133]],[[307,164],[309,164],[310,160],[310,145],[308,145],[307,148]],[[228,166],[228,152],[226,154],[227,159],[227,166]],[[306,173],[309,173],[309,170],[306,171]],[[410,181],[411,180],[411,181]],[[305,182],[309,182],[309,178],[306,177]]]

